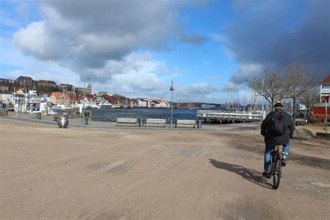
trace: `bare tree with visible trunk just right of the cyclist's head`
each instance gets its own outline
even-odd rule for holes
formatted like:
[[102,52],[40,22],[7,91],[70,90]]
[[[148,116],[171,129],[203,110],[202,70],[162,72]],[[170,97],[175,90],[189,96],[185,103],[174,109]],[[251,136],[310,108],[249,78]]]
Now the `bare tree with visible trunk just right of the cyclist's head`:
[[285,81],[283,90],[288,98],[293,100],[292,118],[293,123],[296,121],[296,105],[297,100],[300,99],[304,93],[315,86],[315,76],[308,74],[306,68],[302,63],[291,63],[283,70],[285,74]]

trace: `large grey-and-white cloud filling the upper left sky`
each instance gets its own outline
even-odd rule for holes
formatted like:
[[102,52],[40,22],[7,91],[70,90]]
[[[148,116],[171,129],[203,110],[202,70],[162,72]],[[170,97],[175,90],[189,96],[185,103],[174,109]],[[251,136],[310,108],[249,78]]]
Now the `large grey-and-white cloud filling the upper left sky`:
[[[41,1],[42,20],[14,35],[22,51],[40,60],[56,61],[85,77],[109,61],[141,47],[164,45],[177,35],[177,1]],[[88,15],[88,16],[86,16]],[[97,77],[97,74],[94,75]]]

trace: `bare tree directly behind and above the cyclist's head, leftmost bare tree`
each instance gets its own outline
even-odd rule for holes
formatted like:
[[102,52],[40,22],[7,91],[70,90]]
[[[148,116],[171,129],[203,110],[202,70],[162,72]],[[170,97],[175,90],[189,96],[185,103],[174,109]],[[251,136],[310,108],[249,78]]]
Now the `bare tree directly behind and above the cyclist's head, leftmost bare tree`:
[[271,104],[272,109],[277,100],[282,100],[285,97],[285,86],[283,72],[269,71],[268,69],[262,73],[261,79],[250,81],[248,86],[256,91]]

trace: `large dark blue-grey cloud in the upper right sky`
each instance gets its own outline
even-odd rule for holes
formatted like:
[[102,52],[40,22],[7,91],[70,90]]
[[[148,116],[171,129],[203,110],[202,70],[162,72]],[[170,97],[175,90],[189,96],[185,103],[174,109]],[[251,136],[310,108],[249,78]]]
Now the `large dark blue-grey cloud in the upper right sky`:
[[[278,69],[298,61],[319,79],[329,74],[330,1],[251,1],[242,8],[226,32],[238,63]],[[248,76],[236,72],[231,81],[239,84]]]

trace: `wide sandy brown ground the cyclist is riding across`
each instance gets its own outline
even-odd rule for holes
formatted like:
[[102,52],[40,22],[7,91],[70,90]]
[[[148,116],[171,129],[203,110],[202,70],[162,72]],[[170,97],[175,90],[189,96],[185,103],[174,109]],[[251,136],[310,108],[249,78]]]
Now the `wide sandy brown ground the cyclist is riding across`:
[[262,178],[257,130],[150,131],[0,118],[1,219],[328,219],[329,141]]

